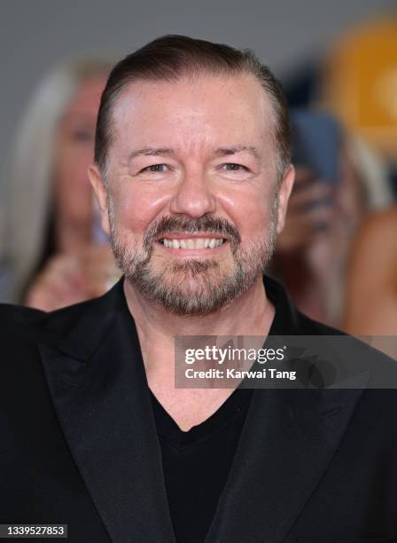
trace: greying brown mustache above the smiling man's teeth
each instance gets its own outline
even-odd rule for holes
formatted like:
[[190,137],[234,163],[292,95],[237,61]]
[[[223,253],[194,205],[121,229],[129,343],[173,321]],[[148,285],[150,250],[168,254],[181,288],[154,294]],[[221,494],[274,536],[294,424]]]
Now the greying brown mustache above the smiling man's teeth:
[[147,251],[152,250],[152,242],[165,234],[173,233],[198,233],[206,232],[219,234],[230,239],[232,250],[241,243],[240,232],[236,226],[230,224],[226,219],[211,215],[203,215],[199,218],[191,216],[163,216],[160,220],[144,233],[144,248]]

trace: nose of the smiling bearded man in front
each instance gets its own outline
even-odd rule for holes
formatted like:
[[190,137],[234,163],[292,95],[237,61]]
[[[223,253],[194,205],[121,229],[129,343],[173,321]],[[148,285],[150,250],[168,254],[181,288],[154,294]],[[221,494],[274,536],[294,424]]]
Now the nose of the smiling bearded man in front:
[[209,180],[202,172],[184,172],[170,205],[172,213],[192,217],[216,211],[216,200],[211,192]]

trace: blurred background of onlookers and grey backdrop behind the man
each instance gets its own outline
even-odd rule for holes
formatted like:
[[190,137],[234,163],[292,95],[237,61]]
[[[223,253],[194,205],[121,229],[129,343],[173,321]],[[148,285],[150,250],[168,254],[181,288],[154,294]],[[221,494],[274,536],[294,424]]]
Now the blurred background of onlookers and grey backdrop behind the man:
[[51,310],[117,276],[84,174],[98,99],[114,60],[184,34],[253,49],[284,84],[298,178],[271,272],[316,319],[397,334],[395,1],[1,8],[1,301]]

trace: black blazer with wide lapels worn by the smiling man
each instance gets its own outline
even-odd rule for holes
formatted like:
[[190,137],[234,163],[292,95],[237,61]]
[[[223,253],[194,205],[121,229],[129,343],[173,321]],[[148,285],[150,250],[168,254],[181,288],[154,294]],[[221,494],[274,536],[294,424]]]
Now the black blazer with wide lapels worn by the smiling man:
[[[284,334],[335,333],[266,286]],[[52,313],[2,306],[0,319],[0,523],[67,523],[74,542],[175,542],[121,283]],[[395,390],[254,390],[206,541],[395,538],[396,419]]]

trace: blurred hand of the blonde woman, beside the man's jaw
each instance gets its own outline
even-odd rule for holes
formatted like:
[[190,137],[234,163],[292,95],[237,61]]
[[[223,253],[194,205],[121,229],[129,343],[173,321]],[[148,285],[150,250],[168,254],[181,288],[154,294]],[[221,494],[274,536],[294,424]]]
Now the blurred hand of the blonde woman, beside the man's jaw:
[[52,256],[28,288],[25,303],[54,311],[105,294],[117,271],[110,248],[91,245]]

